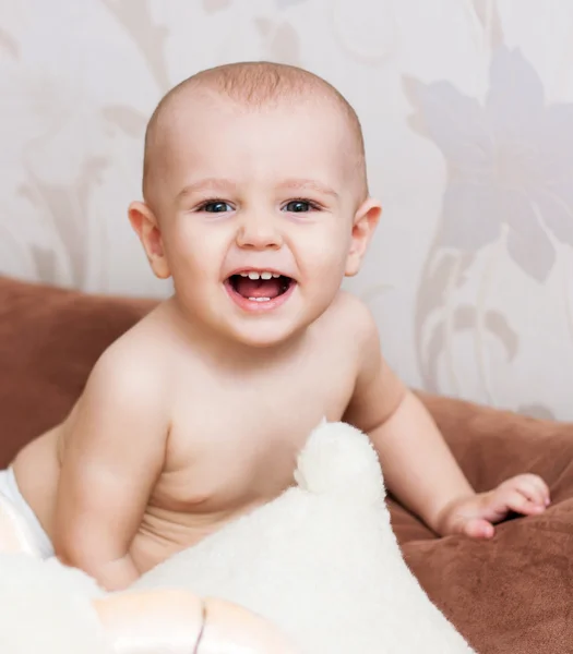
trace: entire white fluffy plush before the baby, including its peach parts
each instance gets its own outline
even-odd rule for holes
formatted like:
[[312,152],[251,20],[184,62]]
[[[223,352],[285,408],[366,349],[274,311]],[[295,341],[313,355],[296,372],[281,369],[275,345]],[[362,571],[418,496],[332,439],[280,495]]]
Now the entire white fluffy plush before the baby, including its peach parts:
[[56,560],[3,555],[0,652],[473,652],[404,562],[365,434],[323,422],[295,477],[123,593],[105,594]]

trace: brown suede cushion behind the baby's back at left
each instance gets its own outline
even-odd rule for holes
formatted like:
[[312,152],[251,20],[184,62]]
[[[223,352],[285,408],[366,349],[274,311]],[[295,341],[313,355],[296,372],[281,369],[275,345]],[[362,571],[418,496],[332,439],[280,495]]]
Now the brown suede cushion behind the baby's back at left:
[[103,350],[154,304],[0,277],[0,468],[62,420]]

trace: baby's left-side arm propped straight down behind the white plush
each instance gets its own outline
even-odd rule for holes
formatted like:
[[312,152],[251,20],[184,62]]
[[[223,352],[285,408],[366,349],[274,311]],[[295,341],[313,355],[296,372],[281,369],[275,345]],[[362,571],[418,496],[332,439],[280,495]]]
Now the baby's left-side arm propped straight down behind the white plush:
[[70,416],[55,507],[56,555],[110,591],[140,576],[130,545],[165,459],[165,388],[141,361],[108,351],[94,367]]

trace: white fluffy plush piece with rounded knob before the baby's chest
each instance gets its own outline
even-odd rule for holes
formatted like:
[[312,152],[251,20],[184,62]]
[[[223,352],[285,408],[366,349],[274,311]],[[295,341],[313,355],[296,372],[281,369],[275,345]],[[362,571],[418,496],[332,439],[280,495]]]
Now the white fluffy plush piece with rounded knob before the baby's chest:
[[469,654],[408,570],[368,437],[322,423],[298,486],[143,576],[243,605],[306,654]]

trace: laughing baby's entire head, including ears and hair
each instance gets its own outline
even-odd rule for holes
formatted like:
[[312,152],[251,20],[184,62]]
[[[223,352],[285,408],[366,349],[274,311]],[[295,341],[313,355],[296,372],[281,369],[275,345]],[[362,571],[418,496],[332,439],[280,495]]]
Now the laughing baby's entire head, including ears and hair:
[[143,196],[130,220],[181,312],[250,346],[329,307],[381,211],[353,108],[320,77],[265,62],[203,71],[163,98]]

